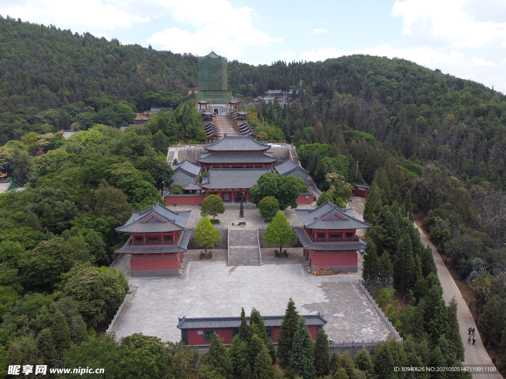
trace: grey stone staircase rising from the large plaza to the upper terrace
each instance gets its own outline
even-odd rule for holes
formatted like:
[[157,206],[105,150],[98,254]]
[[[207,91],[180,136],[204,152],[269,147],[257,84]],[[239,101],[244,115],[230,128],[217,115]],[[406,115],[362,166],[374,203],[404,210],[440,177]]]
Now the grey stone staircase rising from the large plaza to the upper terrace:
[[229,229],[228,265],[262,265],[257,229]]

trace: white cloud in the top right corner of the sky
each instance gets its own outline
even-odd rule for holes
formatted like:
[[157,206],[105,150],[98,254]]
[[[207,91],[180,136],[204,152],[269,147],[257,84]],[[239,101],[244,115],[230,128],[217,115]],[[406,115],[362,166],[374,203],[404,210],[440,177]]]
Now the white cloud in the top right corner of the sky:
[[506,46],[506,22],[497,22],[493,14],[486,17],[482,13],[475,18],[482,7],[483,2],[478,0],[397,0],[392,15],[402,17],[404,35],[426,43],[453,48]]

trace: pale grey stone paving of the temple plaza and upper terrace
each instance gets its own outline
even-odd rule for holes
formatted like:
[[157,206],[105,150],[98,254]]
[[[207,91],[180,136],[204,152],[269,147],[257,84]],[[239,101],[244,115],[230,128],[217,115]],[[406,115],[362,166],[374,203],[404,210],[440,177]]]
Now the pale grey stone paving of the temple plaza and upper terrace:
[[[221,226],[232,228],[232,222],[237,225],[238,204],[232,207],[219,215]],[[196,226],[200,219],[198,206],[174,208],[191,209],[187,227]],[[352,208],[357,216],[361,215],[363,199],[353,198]],[[286,214],[290,224],[302,224],[292,209]],[[265,227],[258,209],[245,207],[242,220],[248,228]],[[322,313],[328,321],[326,333],[336,341],[387,338],[390,329],[357,283],[362,257],[358,273],[315,277],[304,267],[302,248],[290,248],[288,252],[288,258],[274,258],[273,249],[265,248],[262,266],[227,267],[226,249],[214,250],[212,260],[200,260],[199,250],[189,250],[185,253],[184,273],[179,277],[130,277],[130,256],[125,255],[115,266],[125,271],[133,293],[112,330],[118,338],[143,333],[178,342],[178,317],[239,316],[241,307],[246,314],[255,307],[262,315],[283,315],[292,297],[299,314]]]

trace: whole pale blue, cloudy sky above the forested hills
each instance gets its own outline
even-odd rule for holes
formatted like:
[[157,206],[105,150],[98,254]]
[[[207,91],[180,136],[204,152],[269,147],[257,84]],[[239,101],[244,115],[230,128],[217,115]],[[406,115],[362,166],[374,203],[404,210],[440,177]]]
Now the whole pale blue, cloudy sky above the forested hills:
[[405,58],[506,93],[505,0],[0,0],[0,15],[254,65]]

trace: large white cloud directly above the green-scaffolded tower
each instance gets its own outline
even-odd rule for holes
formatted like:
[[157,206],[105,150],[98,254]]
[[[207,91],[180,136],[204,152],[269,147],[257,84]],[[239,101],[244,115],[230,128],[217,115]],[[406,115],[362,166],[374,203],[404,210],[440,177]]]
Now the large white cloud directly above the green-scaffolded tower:
[[283,38],[271,37],[251,25],[251,8],[233,8],[227,0],[216,0],[212,7],[203,0],[158,0],[158,4],[176,22],[197,29],[190,32],[184,30],[186,28],[172,27],[156,32],[148,39],[151,44],[173,52],[205,55],[216,49],[219,54],[236,59],[248,46],[267,48],[271,43],[283,41]]

